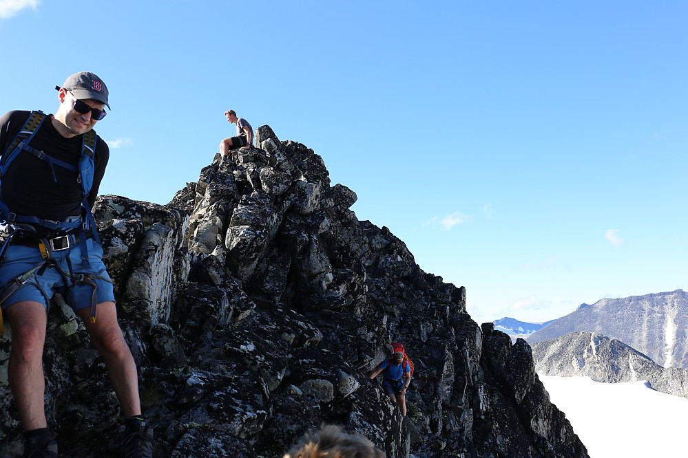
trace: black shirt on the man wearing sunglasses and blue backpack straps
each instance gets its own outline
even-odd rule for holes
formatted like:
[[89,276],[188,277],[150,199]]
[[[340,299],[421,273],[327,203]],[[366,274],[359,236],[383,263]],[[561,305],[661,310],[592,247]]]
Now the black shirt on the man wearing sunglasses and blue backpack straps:
[[[0,118],[0,155],[19,133],[30,111],[10,111]],[[34,135],[30,146],[79,169],[83,135],[64,138],[54,128],[51,115],[45,116],[43,124]],[[94,157],[95,173],[93,186],[88,195],[92,207],[98,196],[98,187],[105,173],[110,149],[100,138],[96,137],[96,155]],[[19,215],[34,216],[53,221],[64,221],[70,216],[81,215],[83,190],[77,181],[79,173],[54,165],[55,177],[52,177],[50,164],[34,155],[21,151],[14,158],[10,168],[0,180],[0,198]]]

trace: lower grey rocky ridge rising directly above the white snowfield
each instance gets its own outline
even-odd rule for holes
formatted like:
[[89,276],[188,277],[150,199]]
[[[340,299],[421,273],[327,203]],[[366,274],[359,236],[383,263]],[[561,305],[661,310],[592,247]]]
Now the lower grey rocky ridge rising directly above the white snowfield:
[[541,375],[587,376],[596,382],[647,380],[662,393],[688,397],[688,369],[665,369],[621,340],[592,332],[572,332],[531,345]]

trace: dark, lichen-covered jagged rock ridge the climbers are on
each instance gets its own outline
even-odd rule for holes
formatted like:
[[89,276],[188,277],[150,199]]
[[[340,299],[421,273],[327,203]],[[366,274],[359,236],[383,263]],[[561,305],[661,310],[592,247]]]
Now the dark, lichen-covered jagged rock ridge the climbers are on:
[[[323,423],[388,457],[587,457],[515,345],[466,313],[387,228],[358,221],[320,156],[281,142],[219,157],[166,206],[102,196],[96,217],[156,456],[282,457]],[[116,456],[118,404],[68,307],[52,307],[48,421],[66,457]],[[0,338],[0,455],[21,450]],[[404,342],[404,420],[367,374]]]

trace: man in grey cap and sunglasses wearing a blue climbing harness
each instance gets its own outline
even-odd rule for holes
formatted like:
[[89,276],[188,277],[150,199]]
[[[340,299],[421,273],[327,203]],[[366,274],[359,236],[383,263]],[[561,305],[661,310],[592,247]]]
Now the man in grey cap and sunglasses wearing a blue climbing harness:
[[8,376],[25,430],[25,456],[57,456],[45,419],[42,360],[48,307],[59,292],[107,364],[125,417],[124,456],[152,457],[153,431],[141,416],[136,363],[117,322],[91,214],[110,157],[92,131],[110,108],[107,87],[95,74],[81,72],[56,89],[60,106],[54,115],[10,111],[0,118],[0,219],[8,224],[0,308],[12,327]]

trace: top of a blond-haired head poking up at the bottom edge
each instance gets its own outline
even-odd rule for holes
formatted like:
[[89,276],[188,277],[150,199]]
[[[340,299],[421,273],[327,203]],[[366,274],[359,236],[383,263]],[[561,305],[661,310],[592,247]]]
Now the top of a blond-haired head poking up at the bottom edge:
[[340,426],[324,426],[306,435],[282,458],[384,458],[384,452],[362,435],[345,433]]

